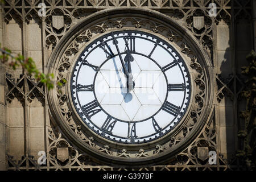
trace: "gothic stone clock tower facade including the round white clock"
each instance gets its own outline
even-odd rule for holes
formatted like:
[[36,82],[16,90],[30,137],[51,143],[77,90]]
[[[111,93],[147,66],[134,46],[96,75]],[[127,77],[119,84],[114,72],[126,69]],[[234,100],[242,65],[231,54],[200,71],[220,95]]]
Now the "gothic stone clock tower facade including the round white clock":
[[0,169],[239,169],[254,1],[6,1]]

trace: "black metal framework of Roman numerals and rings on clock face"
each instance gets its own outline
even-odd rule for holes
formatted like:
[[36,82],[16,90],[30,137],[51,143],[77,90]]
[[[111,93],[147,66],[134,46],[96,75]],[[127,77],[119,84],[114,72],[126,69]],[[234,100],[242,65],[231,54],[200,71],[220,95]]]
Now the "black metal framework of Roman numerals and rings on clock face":
[[[128,36],[127,36],[127,35],[122,35],[123,32],[127,33]],[[135,38],[135,39],[136,39],[136,38],[146,39],[146,40],[148,40],[148,41],[154,42],[156,46],[160,46],[160,47],[166,49],[164,46],[162,46],[162,45],[160,44],[160,42],[162,42],[163,44],[167,45],[168,48],[171,48],[172,51],[175,52],[175,54],[179,57],[179,59],[176,59],[176,57],[174,57],[174,56],[170,53],[170,55],[174,58],[175,61],[172,62],[172,63],[170,63],[170,64],[168,64],[168,65],[166,65],[166,66],[164,66],[164,67],[160,67],[160,65],[159,65],[154,59],[151,58],[152,52],[154,51],[154,49],[155,49],[156,46],[152,49],[150,55],[144,55],[143,53],[139,53],[139,52],[135,52],[135,51],[131,50],[131,53],[133,53],[133,54],[138,54],[138,55],[147,57],[148,59],[150,59],[151,61],[153,61],[156,65],[158,65],[158,67],[159,67],[160,70],[162,71],[164,77],[166,78],[166,83],[167,83],[167,92],[166,92],[166,98],[165,98],[165,100],[164,100],[164,104],[160,107],[160,109],[159,109],[156,113],[152,114],[151,117],[148,117],[148,118],[146,118],[146,119],[142,119],[141,121],[131,121],[131,122],[129,122],[129,121],[123,121],[123,120],[121,120],[121,119],[115,118],[115,117],[113,117],[112,115],[108,114],[108,112],[106,112],[106,111],[101,107],[100,103],[99,103],[98,100],[97,100],[95,91],[94,91],[94,85],[95,85],[96,76],[97,76],[97,73],[100,71],[100,68],[102,67],[102,65],[104,65],[104,64],[106,63],[106,61],[112,59],[113,57],[118,56],[118,54],[114,54],[114,53],[111,51],[111,49],[109,49],[109,47],[106,46],[107,49],[105,49],[105,52],[106,52],[106,57],[107,57],[107,59],[106,59],[105,61],[103,61],[103,63],[102,63],[100,66],[96,66],[96,65],[93,65],[93,64],[89,63],[89,62],[86,60],[86,57],[89,55],[90,52],[92,52],[92,51],[93,51],[94,49],[96,49],[97,47],[102,47],[102,45],[105,44],[106,42],[112,42],[112,41],[113,41],[112,38],[108,39],[108,40],[105,41],[105,42],[103,41],[104,38],[110,36],[110,33],[109,33],[109,34],[106,34],[106,35],[104,35],[104,36],[101,36],[100,38],[98,38],[98,39],[94,40],[92,43],[90,43],[89,46],[87,46],[87,47],[84,49],[84,51],[81,52],[81,54],[80,54],[80,56],[79,56],[79,59],[77,59],[76,67],[79,66],[79,69],[78,69],[78,70],[77,70],[77,69],[74,69],[74,70],[72,71],[72,79],[71,79],[71,85],[72,85],[72,86],[71,86],[71,93],[72,93],[72,101],[73,101],[73,104],[75,105],[75,108],[76,108],[77,113],[79,113],[80,118],[81,118],[82,121],[86,124],[86,126],[88,126],[91,130],[93,130],[93,131],[96,132],[97,134],[100,134],[100,130],[101,130],[101,134],[100,134],[100,135],[101,135],[102,137],[106,138],[106,139],[112,140],[112,141],[114,141],[114,142],[127,143],[127,144],[138,144],[138,143],[151,142],[152,140],[155,140],[155,139],[157,139],[157,138],[163,137],[163,135],[166,135],[167,133],[169,133],[169,132],[177,125],[177,123],[179,123],[179,121],[181,120],[181,118],[183,118],[183,115],[184,115],[185,111],[186,111],[187,108],[188,108],[188,102],[190,101],[190,97],[191,97],[191,82],[190,82],[191,79],[190,79],[190,76],[189,76],[188,68],[187,68],[187,66],[185,65],[184,60],[181,58],[181,56],[179,55],[179,53],[178,53],[170,44],[168,44],[166,41],[164,41],[164,40],[158,38],[157,36],[154,36],[154,35],[152,35],[152,34],[148,34],[147,32],[131,31],[131,30],[127,30],[127,31],[115,31],[115,32],[113,32],[113,33],[114,33],[114,35],[117,35],[117,37],[115,37],[116,39],[119,39],[119,38],[127,38],[127,37],[131,36],[132,33],[135,33],[135,35],[132,35],[133,38]],[[150,36],[150,37],[152,38],[152,40],[147,39],[147,38],[143,38],[143,37],[141,37],[141,36],[136,36],[136,34],[144,34],[144,35],[147,35],[147,38],[148,38],[148,36]],[[100,40],[101,44],[97,44],[97,42],[98,42],[99,40]],[[97,46],[93,47],[92,50],[90,50],[90,51],[88,52],[88,49],[89,49],[90,47],[92,47],[94,44],[97,44]],[[107,44],[107,45],[108,45],[108,44]],[[135,46],[135,45],[134,45],[134,46]],[[110,50],[110,51],[109,51],[109,50]],[[167,51],[167,52],[170,52],[170,51],[168,51],[167,49],[166,49],[166,51]],[[84,57],[84,59],[82,59],[81,56],[85,55],[86,52],[88,52],[88,53],[86,54],[86,56]],[[127,52],[121,52],[121,54],[126,54],[126,53],[127,53]],[[182,64],[181,64],[181,66],[180,66],[180,64],[177,64],[177,63],[182,63]],[[166,76],[166,74],[164,73],[164,71],[166,71],[167,69],[169,69],[169,68],[171,68],[172,66],[174,66],[174,64],[179,66],[179,69],[181,70],[181,73],[182,73],[182,75],[183,75],[184,83],[185,83],[185,76],[184,76],[184,73],[183,73],[183,72],[187,72],[188,81],[186,82],[186,84],[180,84],[180,85],[179,85],[179,84],[173,84],[173,85],[169,85],[169,84],[168,84],[168,79],[167,79],[167,76]],[[74,75],[74,74],[75,74],[75,71],[77,71],[77,73],[79,73],[80,68],[81,68],[81,65],[88,65],[89,67],[92,67],[92,69],[94,69],[94,70],[96,71],[95,76],[94,76],[94,80],[93,80],[93,84],[91,84],[91,85],[80,85],[80,84],[77,84],[77,79],[76,79],[75,82],[73,82],[73,77],[75,76],[75,75]],[[181,67],[183,67],[183,68],[181,68]],[[170,92],[171,90],[174,90],[174,91],[175,91],[175,90],[179,90],[179,89],[183,89],[183,90],[184,90],[184,97],[183,97],[183,103],[182,103],[182,105],[185,104],[186,107],[184,108],[183,111],[180,110],[181,108],[180,108],[180,109],[179,109],[179,108],[175,108],[175,105],[172,105],[170,102],[167,101],[168,92]],[[76,97],[73,96],[74,90],[76,90]],[[90,91],[90,92],[93,92],[94,98],[95,98],[94,101],[89,102],[88,104],[86,104],[85,110],[83,110],[83,111],[81,111],[81,110],[80,110],[79,108],[77,108],[77,106],[76,106],[77,104],[79,104],[79,105],[80,105],[80,108],[82,108],[82,105],[80,104],[80,101],[77,99],[77,98],[78,98],[77,92],[78,92],[79,90],[80,90],[80,91]],[[186,93],[189,94],[189,97],[187,97],[187,98],[185,98],[185,94],[186,94]],[[185,99],[187,99],[188,102],[184,103]],[[76,100],[77,100],[77,102],[76,102]],[[90,119],[90,115],[86,114],[86,109],[91,109],[91,108],[96,108],[96,107],[100,107],[100,109],[94,110],[95,113],[93,113],[93,114],[96,114],[96,113],[98,113],[99,111],[104,111],[104,113],[106,114],[106,121],[104,122],[104,124],[102,125],[101,128],[98,127],[97,125],[95,125],[95,124],[93,123],[93,121]],[[170,113],[170,114],[175,115],[174,119],[173,119],[167,126],[165,126],[163,129],[160,129],[160,127],[158,126],[157,122],[154,122],[154,121],[155,121],[154,116],[155,116],[156,114],[158,114],[160,110],[165,110],[165,111],[167,111],[168,113],[172,112],[172,113]],[[176,111],[176,113],[173,113],[173,110]],[[85,116],[86,119],[88,119],[89,123],[92,123],[93,126],[90,126],[89,123],[86,122],[86,119],[84,119],[83,116]],[[179,116],[180,116],[180,117],[179,117]],[[179,118],[177,118],[177,117],[179,117]],[[156,133],[154,133],[154,134],[148,135],[148,136],[146,136],[146,137],[141,137],[141,138],[140,138],[140,137],[137,137],[136,134],[133,135],[133,133],[131,133],[131,135],[129,136],[130,138],[128,138],[128,137],[125,138],[125,137],[115,136],[115,135],[111,134],[111,131],[112,131],[112,129],[113,129],[111,123],[113,123],[113,122],[116,122],[116,121],[119,121],[119,122],[127,122],[127,123],[129,123],[129,125],[130,125],[130,123],[131,123],[131,124],[133,125],[133,126],[131,127],[131,130],[134,130],[134,129],[135,129],[135,124],[136,124],[137,122],[143,122],[143,121],[146,121],[146,120],[151,119],[151,118],[152,118],[152,125],[154,126],[154,128],[155,128],[155,130],[156,130]],[[169,130],[166,130],[167,127],[169,127],[169,126],[171,125],[171,123],[175,121],[176,118],[178,119],[178,121],[174,124],[174,126],[172,126]],[[112,121],[112,119],[114,119],[114,121]],[[108,126],[109,128],[107,129],[106,126]],[[165,131],[165,133],[163,134],[163,131],[164,131],[164,130],[166,130],[166,131]],[[109,133],[108,131],[110,131],[110,133]],[[159,137],[156,137],[156,134],[159,134]],[[114,137],[114,139],[109,138],[109,137],[107,137],[106,135],[112,135],[112,137]],[[155,137],[154,137],[154,136],[155,136]],[[116,137],[116,138],[126,139],[126,141],[123,142],[123,141],[121,141],[121,139],[120,139],[120,140],[117,140],[117,139],[115,139],[115,137]],[[152,138],[151,138],[151,137],[152,137]],[[153,137],[154,137],[154,138],[153,138]],[[148,140],[145,140],[145,139],[144,139],[143,142],[138,140],[138,139],[143,139],[143,138],[150,138],[150,139],[148,139]],[[130,140],[130,142],[128,142],[128,140]]]

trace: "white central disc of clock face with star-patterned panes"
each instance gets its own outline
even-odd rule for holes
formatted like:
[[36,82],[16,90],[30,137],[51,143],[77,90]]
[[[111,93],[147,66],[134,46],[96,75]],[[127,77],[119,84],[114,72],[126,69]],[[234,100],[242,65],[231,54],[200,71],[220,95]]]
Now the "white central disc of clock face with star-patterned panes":
[[[150,118],[163,105],[167,83],[162,85],[162,94],[159,97],[159,82],[166,82],[161,69],[150,59],[141,55],[133,55],[134,61],[131,64],[134,89],[127,93],[126,77],[122,67],[115,67],[115,58],[108,60],[97,73],[95,80],[96,98],[108,114],[113,118],[127,122],[138,122]],[[141,61],[139,64],[137,60]],[[113,64],[113,65],[112,65]],[[147,65],[147,67],[146,67]],[[115,68],[115,69],[113,69]],[[101,94],[101,87],[108,88],[105,95]]]

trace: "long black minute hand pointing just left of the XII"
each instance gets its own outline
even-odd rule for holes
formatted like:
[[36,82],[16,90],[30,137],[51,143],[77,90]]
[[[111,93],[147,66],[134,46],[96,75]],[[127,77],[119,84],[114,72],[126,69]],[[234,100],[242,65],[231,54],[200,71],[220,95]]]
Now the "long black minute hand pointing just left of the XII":
[[[125,75],[126,75],[126,78],[127,78],[126,85],[127,85],[127,91],[129,92],[130,90],[133,90],[134,85],[135,85],[134,81],[133,81],[133,75],[131,73],[129,73],[127,71],[127,69],[125,68],[125,63],[123,63],[123,58],[122,58],[121,53],[119,51],[119,48],[117,46],[117,40],[115,39],[113,32],[111,32],[111,35],[112,35],[112,38],[113,38],[113,41],[114,41],[115,48],[117,49],[119,59],[121,61],[122,67],[123,67],[123,72],[125,72]],[[130,71],[131,71],[131,69],[130,69]]]

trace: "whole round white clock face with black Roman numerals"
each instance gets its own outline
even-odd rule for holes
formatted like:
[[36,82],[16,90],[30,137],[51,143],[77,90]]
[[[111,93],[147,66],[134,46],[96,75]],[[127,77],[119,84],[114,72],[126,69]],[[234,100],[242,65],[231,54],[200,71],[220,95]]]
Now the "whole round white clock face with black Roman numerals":
[[112,32],[94,40],[77,60],[71,85],[73,104],[89,129],[130,144],[170,132],[191,94],[180,55],[141,31]]

